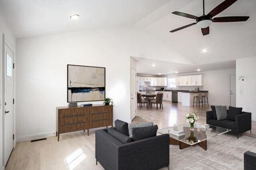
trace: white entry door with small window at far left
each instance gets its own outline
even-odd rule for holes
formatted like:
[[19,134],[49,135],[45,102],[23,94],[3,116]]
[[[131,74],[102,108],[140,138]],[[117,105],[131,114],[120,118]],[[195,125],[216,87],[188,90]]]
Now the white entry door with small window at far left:
[[13,149],[13,52],[5,45],[4,56],[4,164],[6,165],[8,158]]

